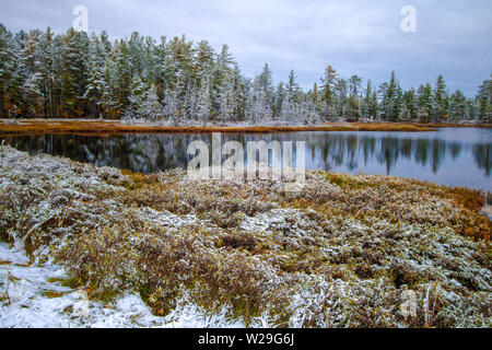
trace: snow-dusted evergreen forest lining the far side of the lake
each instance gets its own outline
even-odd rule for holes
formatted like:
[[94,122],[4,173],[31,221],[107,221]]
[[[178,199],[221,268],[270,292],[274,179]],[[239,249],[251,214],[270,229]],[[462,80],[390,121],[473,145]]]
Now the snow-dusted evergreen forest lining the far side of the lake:
[[106,32],[87,36],[21,31],[0,24],[1,116],[101,117],[171,124],[317,124],[335,120],[492,120],[492,79],[473,98],[449,93],[442,75],[403,91],[391,72],[378,86],[339,77],[328,66],[305,92],[291,71],[273,85],[268,65],[245,77],[224,45],[185,36],[160,42],[133,33],[112,43]]

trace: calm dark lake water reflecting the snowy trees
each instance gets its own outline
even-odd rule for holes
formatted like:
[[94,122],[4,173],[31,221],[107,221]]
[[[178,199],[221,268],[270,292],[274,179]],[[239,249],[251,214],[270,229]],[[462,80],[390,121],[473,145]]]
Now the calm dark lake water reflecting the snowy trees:
[[[210,135],[23,136],[5,142],[31,154],[150,173],[186,167],[194,140]],[[222,141],[306,141],[306,167],[344,173],[412,177],[492,191],[492,129],[447,128],[432,132],[295,132],[222,135]]]

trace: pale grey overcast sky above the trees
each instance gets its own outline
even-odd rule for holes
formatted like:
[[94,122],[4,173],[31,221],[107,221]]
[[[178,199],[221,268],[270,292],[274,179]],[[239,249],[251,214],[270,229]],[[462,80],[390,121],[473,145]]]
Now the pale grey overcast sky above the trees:
[[[450,91],[475,94],[492,73],[491,0],[0,0],[0,23],[11,31],[70,27],[85,5],[89,31],[113,38],[186,34],[215,50],[229,44],[242,71],[265,62],[278,82],[294,69],[301,86],[319,81],[327,65],[376,84],[391,70],[405,89],[442,73]],[[403,33],[403,5],[417,10],[417,33]]]

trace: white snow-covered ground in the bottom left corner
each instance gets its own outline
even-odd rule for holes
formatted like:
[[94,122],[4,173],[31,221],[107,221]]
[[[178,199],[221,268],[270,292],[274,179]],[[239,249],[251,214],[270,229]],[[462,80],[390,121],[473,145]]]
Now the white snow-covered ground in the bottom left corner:
[[63,287],[66,278],[57,264],[31,264],[23,250],[0,243],[0,328],[244,327],[186,300],[166,317],[152,315],[137,294],[114,303],[90,301],[84,290]]

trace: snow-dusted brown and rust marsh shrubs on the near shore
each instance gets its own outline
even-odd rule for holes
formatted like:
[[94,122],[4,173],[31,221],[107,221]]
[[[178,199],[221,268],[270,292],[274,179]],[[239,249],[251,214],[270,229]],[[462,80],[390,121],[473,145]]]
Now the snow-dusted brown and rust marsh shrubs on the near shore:
[[[325,172],[288,191],[8,147],[1,162],[0,232],[33,258],[55,256],[90,298],[138,292],[166,315],[186,295],[247,325],[491,326],[492,225],[480,191]],[[419,305],[406,319],[407,289]]]

